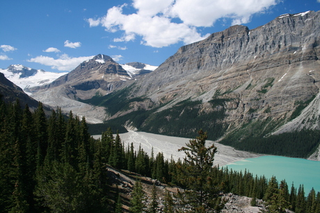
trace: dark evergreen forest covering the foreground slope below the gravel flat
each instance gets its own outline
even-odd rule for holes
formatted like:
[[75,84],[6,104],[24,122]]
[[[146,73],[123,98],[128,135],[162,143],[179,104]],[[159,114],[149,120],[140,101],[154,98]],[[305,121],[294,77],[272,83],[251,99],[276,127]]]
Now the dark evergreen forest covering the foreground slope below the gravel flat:
[[[47,117],[42,103],[31,112],[18,100],[0,101],[0,119],[0,212],[220,212],[227,193],[253,198],[251,205],[263,199],[267,212],[320,212],[314,189],[305,194],[303,185],[289,189],[275,177],[213,167],[216,147],[206,146],[202,130],[175,161],[122,143],[111,128],[93,139],[84,117],[70,112],[65,119],[61,109]],[[137,174],[128,210],[106,167]],[[147,196],[141,176],[179,190],[166,191],[161,208],[157,190]]]

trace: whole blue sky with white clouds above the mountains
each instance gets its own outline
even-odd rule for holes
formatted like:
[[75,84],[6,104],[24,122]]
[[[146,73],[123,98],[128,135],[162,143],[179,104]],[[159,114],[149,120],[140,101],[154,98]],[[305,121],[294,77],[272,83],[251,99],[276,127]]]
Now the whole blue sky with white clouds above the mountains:
[[159,66],[179,47],[234,24],[253,29],[308,10],[320,10],[320,0],[5,0],[0,68],[72,71],[99,53]]

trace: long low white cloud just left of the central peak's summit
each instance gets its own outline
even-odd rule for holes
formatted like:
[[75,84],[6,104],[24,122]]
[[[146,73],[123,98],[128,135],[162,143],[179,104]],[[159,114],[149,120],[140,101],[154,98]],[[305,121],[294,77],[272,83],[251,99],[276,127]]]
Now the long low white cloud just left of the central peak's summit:
[[51,69],[59,71],[71,71],[76,68],[81,62],[90,60],[94,56],[83,56],[78,58],[70,58],[67,54],[61,55],[58,59],[47,56],[37,56],[28,60],[29,62],[40,63],[41,65],[51,66]]

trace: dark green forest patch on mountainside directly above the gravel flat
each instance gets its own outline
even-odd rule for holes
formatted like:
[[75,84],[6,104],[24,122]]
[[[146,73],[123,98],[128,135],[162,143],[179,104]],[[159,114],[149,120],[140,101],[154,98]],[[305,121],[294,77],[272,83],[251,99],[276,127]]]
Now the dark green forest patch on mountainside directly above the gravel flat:
[[200,112],[201,101],[182,101],[172,108],[150,114],[143,126],[138,128],[149,133],[161,133],[177,137],[192,137],[196,129],[206,127],[209,139],[216,139],[223,135],[225,126],[221,120],[225,117],[223,100],[217,99],[218,103],[211,102],[212,108],[221,105],[221,110]]

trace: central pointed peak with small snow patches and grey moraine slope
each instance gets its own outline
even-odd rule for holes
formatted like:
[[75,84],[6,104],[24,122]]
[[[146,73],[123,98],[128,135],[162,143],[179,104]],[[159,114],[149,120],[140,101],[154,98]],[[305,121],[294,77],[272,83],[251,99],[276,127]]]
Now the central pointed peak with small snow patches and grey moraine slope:
[[150,73],[155,68],[140,62],[119,65],[111,57],[99,54],[52,83],[29,88],[29,92],[43,103],[86,116],[89,123],[102,123],[109,118],[104,107],[94,107],[80,101],[109,94],[126,81],[134,81],[133,77]]

